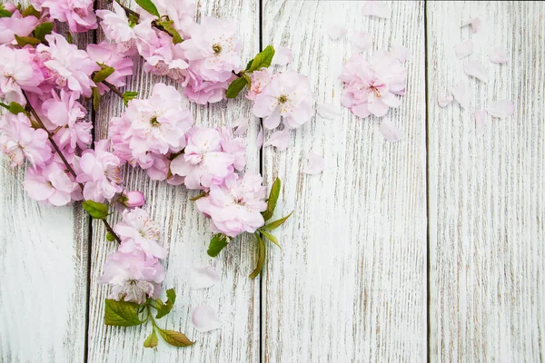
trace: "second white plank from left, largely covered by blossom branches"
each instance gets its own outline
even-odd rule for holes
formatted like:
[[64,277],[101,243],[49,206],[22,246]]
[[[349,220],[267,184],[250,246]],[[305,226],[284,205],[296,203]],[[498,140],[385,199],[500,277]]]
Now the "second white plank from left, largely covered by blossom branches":
[[[101,2],[105,7],[105,2]],[[239,37],[243,42],[243,59],[251,59],[258,51],[258,2],[257,0],[205,1],[199,3],[200,15],[213,15],[221,19],[235,19],[239,24]],[[102,32],[100,32],[102,33]],[[102,35],[101,35],[102,36]],[[167,79],[144,74],[142,61],[134,58],[138,66],[127,89],[138,91],[142,97],[151,93],[154,83],[170,83]],[[179,88],[182,91],[182,88]],[[109,95],[104,97],[101,111],[97,115],[97,138],[107,136],[110,118],[123,112],[123,104]],[[222,126],[233,123],[240,116],[252,117],[251,104],[243,99],[215,103],[209,106],[192,105],[197,125]],[[255,147],[257,119],[252,118],[247,132],[247,171],[259,171],[259,152]],[[169,186],[166,182],[151,182],[144,172],[125,170],[127,186],[144,192],[148,201],[146,208],[155,221],[164,223],[163,238],[169,248],[165,260],[166,279],[163,287],[176,289],[178,299],[173,313],[161,323],[167,329],[183,331],[196,340],[192,348],[173,348],[160,342],[158,351],[143,348],[144,339],[151,326],[135,329],[106,328],[104,326],[104,299],[108,289],[96,285],[107,254],[116,249],[112,242],[104,239],[101,224],[94,223],[91,280],[91,315],[89,324],[90,362],[254,362],[259,359],[260,280],[250,280],[248,275],[255,264],[253,241],[244,239],[223,250],[217,259],[206,255],[212,236],[209,222],[196,210],[190,197],[195,191],[186,191],[183,186]],[[222,278],[211,289],[191,291],[184,278],[186,270],[209,263],[219,267]],[[200,304],[209,304],[217,309],[223,319],[222,329],[199,333],[191,324],[191,313]],[[161,338],[160,338],[161,340]]]

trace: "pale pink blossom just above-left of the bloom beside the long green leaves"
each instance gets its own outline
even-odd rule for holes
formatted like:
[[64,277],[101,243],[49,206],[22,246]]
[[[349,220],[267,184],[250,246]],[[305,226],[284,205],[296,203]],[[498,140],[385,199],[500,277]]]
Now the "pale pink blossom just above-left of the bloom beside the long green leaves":
[[[223,139],[223,140],[222,140]],[[246,164],[246,155],[242,143],[231,140],[227,132],[206,127],[193,127],[187,133],[187,146],[170,165],[175,175],[184,177],[183,183],[189,189],[208,190],[213,184],[221,184],[225,178],[234,172],[237,161],[235,154],[223,149],[242,152],[237,154],[241,169]],[[237,168],[238,169],[238,168]]]

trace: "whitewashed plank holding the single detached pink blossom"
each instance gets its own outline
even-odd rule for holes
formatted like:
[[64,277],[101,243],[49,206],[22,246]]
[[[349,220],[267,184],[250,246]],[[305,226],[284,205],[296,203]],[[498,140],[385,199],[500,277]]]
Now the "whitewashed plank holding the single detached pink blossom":
[[[356,52],[329,38],[335,23],[372,34],[373,51],[400,42],[411,61],[407,95],[389,114],[401,142],[384,142],[375,118],[342,109],[292,132],[287,152],[263,151],[268,182],[279,176],[285,186],[276,216],[295,211],[276,230],[282,250],[268,250],[263,361],[426,358],[423,4],[390,5],[384,20],[363,16],[359,2],[264,1],[263,44],[292,49],[292,68],[309,75],[319,102],[341,108],[337,77]],[[311,150],[325,156],[320,175],[301,172]]]

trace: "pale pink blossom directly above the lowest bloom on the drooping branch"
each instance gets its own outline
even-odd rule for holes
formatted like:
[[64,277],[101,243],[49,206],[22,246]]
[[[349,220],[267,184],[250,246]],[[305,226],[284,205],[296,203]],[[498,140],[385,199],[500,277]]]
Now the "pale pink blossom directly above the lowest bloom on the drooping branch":
[[142,250],[147,259],[164,259],[166,250],[159,244],[160,227],[152,221],[148,213],[140,208],[125,210],[123,221],[114,226],[114,231],[122,240],[119,250],[132,253]]

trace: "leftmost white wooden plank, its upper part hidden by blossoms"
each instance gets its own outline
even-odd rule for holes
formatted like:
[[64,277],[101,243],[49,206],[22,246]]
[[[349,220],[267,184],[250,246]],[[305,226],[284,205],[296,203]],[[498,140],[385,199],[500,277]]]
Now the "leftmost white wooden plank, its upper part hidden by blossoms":
[[[92,41],[74,36],[80,48]],[[0,159],[0,362],[83,361],[87,213],[30,199],[25,168]]]

